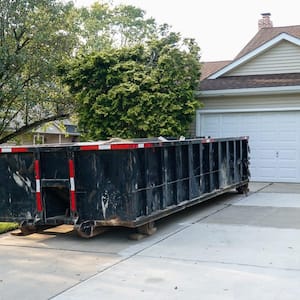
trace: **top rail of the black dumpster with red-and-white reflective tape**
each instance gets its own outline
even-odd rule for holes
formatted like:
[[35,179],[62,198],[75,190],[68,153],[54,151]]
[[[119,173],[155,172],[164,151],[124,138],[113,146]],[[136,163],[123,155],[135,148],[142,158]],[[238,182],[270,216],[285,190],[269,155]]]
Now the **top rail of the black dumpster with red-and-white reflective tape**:
[[77,151],[98,151],[98,150],[130,150],[130,149],[143,149],[154,147],[173,146],[174,144],[190,144],[190,143],[213,143],[217,141],[230,141],[231,139],[248,140],[248,136],[241,137],[229,137],[229,138],[211,138],[200,137],[192,139],[166,139],[166,138],[145,138],[145,139],[118,139],[113,138],[106,141],[96,142],[79,142],[69,144],[43,144],[43,145],[28,145],[28,146],[0,146],[0,154],[5,153],[23,153],[23,152],[35,152],[37,149],[48,148],[72,148]]

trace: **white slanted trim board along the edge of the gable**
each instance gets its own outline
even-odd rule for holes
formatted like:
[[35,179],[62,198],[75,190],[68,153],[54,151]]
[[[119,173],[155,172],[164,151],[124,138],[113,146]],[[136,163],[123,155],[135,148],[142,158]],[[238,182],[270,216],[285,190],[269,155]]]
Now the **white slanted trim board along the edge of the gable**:
[[231,64],[225,66],[224,68],[222,68],[221,70],[217,71],[216,73],[210,75],[208,77],[208,79],[217,79],[218,77],[226,74],[227,72],[233,70],[234,68],[238,67],[239,65],[249,61],[250,59],[252,59],[253,57],[257,56],[258,54],[266,51],[267,49],[273,47],[274,45],[276,45],[277,43],[286,40],[288,42],[291,42],[297,46],[300,46],[300,39],[295,38],[287,33],[281,33],[279,35],[277,35],[275,38],[273,38],[272,40],[264,43],[263,45],[259,46],[258,48],[256,48],[255,50],[249,52],[248,54],[242,56],[241,58],[235,60],[234,62],[232,62]]

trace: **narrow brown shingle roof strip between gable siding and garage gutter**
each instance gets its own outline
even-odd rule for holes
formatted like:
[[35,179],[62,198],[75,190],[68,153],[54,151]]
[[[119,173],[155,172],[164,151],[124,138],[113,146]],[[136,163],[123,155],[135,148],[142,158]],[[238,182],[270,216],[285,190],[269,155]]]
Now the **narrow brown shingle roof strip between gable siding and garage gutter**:
[[200,83],[200,90],[209,91],[293,85],[300,85],[300,73],[228,76],[217,79],[204,79]]

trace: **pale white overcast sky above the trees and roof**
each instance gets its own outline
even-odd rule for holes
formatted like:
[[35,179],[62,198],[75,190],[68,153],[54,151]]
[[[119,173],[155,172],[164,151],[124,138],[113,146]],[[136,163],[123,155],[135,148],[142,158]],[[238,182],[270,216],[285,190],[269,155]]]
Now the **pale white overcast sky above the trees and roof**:
[[[95,0],[74,0],[89,6]],[[195,38],[202,61],[231,60],[256,34],[261,13],[274,26],[300,25],[299,0],[114,0],[142,8],[184,37]]]

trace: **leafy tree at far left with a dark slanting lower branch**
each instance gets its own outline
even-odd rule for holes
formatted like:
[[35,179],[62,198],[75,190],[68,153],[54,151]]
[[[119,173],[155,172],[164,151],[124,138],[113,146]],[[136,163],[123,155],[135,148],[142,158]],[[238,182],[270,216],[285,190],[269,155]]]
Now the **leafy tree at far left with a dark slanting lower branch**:
[[56,76],[78,44],[76,10],[56,0],[0,0],[0,143],[73,105]]

